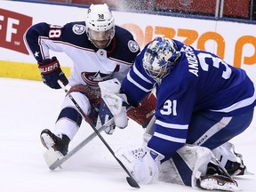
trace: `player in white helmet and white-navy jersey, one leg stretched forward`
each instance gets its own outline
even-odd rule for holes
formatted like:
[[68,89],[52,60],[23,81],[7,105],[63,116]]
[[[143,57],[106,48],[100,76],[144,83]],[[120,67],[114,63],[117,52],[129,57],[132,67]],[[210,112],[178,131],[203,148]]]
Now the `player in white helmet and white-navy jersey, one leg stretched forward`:
[[[98,125],[100,105],[98,83],[111,78],[122,81],[140,52],[132,34],[115,25],[114,16],[107,4],[92,4],[87,10],[85,21],[70,22],[64,26],[44,22],[35,24],[28,28],[25,42],[37,60],[44,84],[60,89],[58,80],[63,84],[69,83],[69,92],[72,92],[76,102],[95,126]],[[71,76],[67,78],[64,75],[59,60],[56,57],[51,59],[50,51],[65,52],[68,55],[73,61]],[[156,98],[151,97],[150,102],[152,100],[156,103]],[[155,111],[154,105],[146,106],[148,109],[133,110],[130,114],[143,126],[148,124],[152,116],[146,116],[147,113]],[[143,117],[137,118],[137,113],[142,113]],[[45,129],[41,132],[44,147],[54,148],[60,156],[65,156],[69,141],[74,138],[81,123],[82,116],[72,101],[65,97],[53,131]],[[105,132],[111,134],[114,128],[112,124]]]

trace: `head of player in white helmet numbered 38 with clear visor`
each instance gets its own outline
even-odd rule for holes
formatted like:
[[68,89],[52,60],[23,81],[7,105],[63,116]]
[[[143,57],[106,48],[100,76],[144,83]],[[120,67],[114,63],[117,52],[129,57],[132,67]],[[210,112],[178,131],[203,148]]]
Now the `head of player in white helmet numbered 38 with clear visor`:
[[114,17],[107,4],[92,4],[85,17],[89,40],[99,49],[104,49],[115,36]]

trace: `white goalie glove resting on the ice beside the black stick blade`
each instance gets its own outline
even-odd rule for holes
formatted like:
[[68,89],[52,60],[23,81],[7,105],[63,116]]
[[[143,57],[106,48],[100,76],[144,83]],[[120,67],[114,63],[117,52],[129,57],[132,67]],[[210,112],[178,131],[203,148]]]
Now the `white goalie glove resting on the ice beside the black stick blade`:
[[140,184],[148,184],[158,179],[157,162],[144,147],[125,147],[116,151],[115,156]]

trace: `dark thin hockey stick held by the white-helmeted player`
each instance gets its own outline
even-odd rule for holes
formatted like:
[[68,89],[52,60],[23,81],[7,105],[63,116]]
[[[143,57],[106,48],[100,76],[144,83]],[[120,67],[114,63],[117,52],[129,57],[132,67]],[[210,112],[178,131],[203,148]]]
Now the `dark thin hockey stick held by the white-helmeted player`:
[[64,92],[67,93],[67,96],[69,97],[69,99],[74,103],[74,105],[76,106],[76,108],[78,109],[78,111],[80,112],[81,116],[84,117],[84,120],[91,125],[93,131],[98,135],[98,137],[100,138],[100,140],[104,143],[104,145],[108,148],[108,151],[112,154],[112,156],[115,157],[116,161],[118,162],[118,164],[121,165],[121,167],[124,169],[124,171],[128,174],[129,177],[126,177],[127,182],[129,183],[129,185],[132,188],[140,188],[139,184],[137,183],[136,180],[134,180],[132,178],[132,174],[126,169],[126,167],[124,166],[124,164],[115,156],[115,152],[113,151],[112,148],[109,147],[108,143],[106,140],[104,140],[104,138],[100,135],[100,132],[96,129],[96,127],[94,126],[94,124],[92,123],[92,120],[85,115],[84,111],[82,108],[80,108],[80,106],[78,105],[78,103],[76,102],[76,100],[73,98],[73,96],[70,94],[70,92],[68,92],[68,90],[66,89],[66,86],[64,84],[62,84],[62,82],[60,80],[58,80],[58,83],[60,84],[60,87],[64,90]]

